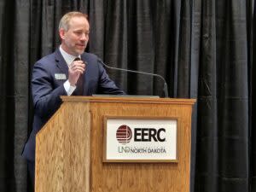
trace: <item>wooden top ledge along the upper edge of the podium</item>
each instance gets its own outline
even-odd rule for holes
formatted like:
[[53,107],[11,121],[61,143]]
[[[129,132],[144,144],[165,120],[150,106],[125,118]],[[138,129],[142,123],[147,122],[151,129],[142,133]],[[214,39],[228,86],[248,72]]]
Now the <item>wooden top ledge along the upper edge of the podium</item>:
[[61,96],[63,102],[127,102],[127,103],[164,103],[193,105],[196,99],[159,98],[155,96]]

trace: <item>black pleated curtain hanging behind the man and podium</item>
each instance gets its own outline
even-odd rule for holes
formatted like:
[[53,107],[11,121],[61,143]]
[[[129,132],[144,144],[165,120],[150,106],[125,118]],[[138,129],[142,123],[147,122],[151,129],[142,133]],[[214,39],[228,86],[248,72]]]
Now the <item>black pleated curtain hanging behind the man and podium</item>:
[[[89,15],[87,51],[162,75],[171,97],[197,99],[190,191],[256,192],[254,0],[1,0],[0,191],[31,191],[20,154],[32,67],[59,46],[58,22],[71,10]],[[108,73],[128,94],[163,94],[161,79]]]

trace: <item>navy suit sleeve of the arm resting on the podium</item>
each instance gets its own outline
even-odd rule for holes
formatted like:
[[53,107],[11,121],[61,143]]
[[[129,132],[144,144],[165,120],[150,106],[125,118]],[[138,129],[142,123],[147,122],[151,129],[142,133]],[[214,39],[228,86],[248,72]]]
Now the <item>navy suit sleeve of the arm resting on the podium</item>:
[[99,90],[103,94],[109,95],[125,95],[125,91],[120,90],[116,84],[114,84],[113,80],[108,77],[108,74],[104,67],[98,63],[100,79],[99,79]]

